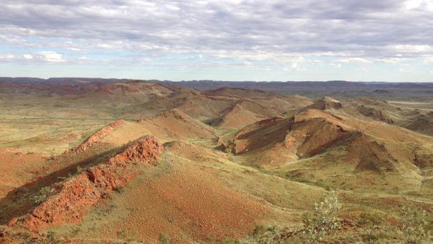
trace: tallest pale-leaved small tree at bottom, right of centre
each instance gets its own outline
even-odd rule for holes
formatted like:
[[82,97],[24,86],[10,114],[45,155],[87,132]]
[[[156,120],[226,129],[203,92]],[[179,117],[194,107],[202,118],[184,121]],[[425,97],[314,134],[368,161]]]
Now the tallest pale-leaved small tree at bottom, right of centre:
[[320,243],[324,236],[339,228],[339,221],[335,213],[341,208],[335,192],[327,196],[320,203],[316,203],[312,213],[302,216],[304,231],[302,236],[309,244]]

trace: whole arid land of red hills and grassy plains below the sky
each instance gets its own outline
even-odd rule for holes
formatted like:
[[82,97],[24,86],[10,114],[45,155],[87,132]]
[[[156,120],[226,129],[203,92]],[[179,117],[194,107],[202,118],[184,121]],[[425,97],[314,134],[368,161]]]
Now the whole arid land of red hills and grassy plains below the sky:
[[[433,221],[433,85],[0,78],[1,243],[402,243]],[[427,241],[428,242],[428,241]]]

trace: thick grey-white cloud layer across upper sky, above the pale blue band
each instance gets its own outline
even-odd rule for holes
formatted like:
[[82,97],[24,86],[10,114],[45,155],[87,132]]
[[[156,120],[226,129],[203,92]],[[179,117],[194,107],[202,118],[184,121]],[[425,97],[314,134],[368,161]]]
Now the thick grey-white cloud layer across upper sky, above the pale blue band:
[[[431,0],[39,2],[6,0],[0,18],[3,33],[15,35],[16,43],[28,36],[64,38],[57,45],[75,51],[263,50],[348,57],[353,52],[395,56],[398,45],[404,51],[404,46],[423,46],[433,38],[427,8],[433,6]],[[408,8],[417,9],[408,13]],[[386,49],[388,45],[397,48]]]

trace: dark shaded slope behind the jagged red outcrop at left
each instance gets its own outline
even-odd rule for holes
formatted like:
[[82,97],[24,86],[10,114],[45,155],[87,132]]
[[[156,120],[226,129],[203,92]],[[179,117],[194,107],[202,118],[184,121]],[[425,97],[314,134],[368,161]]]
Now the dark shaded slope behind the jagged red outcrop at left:
[[[66,163],[67,166],[58,171],[54,171],[49,175],[36,178],[35,180],[8,192],[6,196],[0,199],[0,224],[8,224],[10,220],[13,220],[13,218],[20,217],[28,213],[32,208],[36,207],[36,203],[32,198],[38,194],[39,189],[42,187],[49,187],[56,182],[61,182],[64,178],[78,173],[78,167],[88,168],[94,164],[104,162],[104,160],[117,154],[122,150],[122,148],[124,148],[124,146],[99,153],[94,152],[93,155],[91,155],[91,152],[87,152],[85,155],[80,155],[80,153],[78,153],[75,155],[61,155],[57,159],[51,159],[53,162],[49,162],[49,164]],[[84,159],[82,159],[83,156]],[[74,157],[79,157],[81,159],[79,159],[78,162],[71,162]]]

